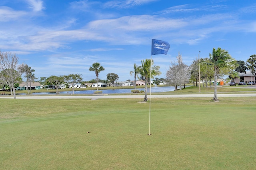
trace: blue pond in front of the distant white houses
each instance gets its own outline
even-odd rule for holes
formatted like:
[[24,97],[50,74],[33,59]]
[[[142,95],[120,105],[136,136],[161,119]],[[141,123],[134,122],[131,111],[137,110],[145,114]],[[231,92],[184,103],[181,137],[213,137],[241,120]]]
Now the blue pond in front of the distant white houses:
[[[166,92],[166,91],[174,91],[174,87],[168,86],[168,87],[151,87],[151,93],[156,92]],[[99,91],[102,91],[102,94],[115,94],[115,93],[132,93],[133,89],[108,89],[108,90],[102,90],[102,88],[99,89]],[[136,88],[136,90],[143,90],[144,88]],[[81,90],[81,91],[74,91],[74,94],[94,94],[94,91],[97,90]],[[147,89],[147,92],[149,93],[150,89]],[[59,94],[67,94],[72,93],[72,91],[60,91]],[[19,95],[25,95],[26,93],[19,93]],[[33,93],[33,95],[49,95],[54,94],[54,92],[48,93],[48,92],[39,92],[39,93]]]

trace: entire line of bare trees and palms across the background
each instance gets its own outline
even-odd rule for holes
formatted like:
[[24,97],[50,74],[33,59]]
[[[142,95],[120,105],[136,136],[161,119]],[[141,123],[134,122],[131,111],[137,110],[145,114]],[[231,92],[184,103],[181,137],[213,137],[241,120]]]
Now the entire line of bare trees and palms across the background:
[[[218,78],[228,75],[232,81],[238,77],[239,73],[246,73],[246,70],[250,70],[251,73],[256,76],[256,55],[251,55],[246,61],[236,61],[231,57],[228,51],[221,49],[213,48],[212,53],[210,53],[209,58],[201,58],[198,60],[193,60],[191,65],[186,65],[182,61],[182,55],[178,53],[176,57],[177,61],[171,61],[169,69],[166,72],[166,82],[174,85],[175,90],[177,87],[180,87],[182,90],[182,85],[188,81],[196,84],[198,86],[199,80],[199,69],[200,65],[200,78],[202,81],[212,82],[214,80],[214,89],[216,89],[216,81]],[[160,75],[159,71],[160,66],[154,65],[154,60],[145,59],[141,61],[141,65],[138,66],[134,63],[133,70],[130,71],[130,75],[134,75],[134,89],[136,90],[136,78],[145,81],[145,97],[144,101],[147,101],[147,85],[150,83],[150,80],[157,75]],[[89,71],[93,71],[96,74],[96,79],[87,81],[88,83],[97,83],[98,91],[98,81],[104,83],[111,82],[114,85],[114,82],[119,79],[118,75],[115,73],[108,73],[106,80],[98,79],[99,73],[104,71],[104,67],[100,63],[93,63],[89,68]],[[19,83],[22,83],[22,79],[25,79],[27,84],[27,90],[31,93],[31,83],[36,79],[34,72],[35,70],[29,67],[27,64],[18,65],[18,57],[15,53],[3,52],[0,51],[0,85],[2,88],[9,88],[11,94],[14,95],[16,99],[15,88],[18,87]],[[96,82],[95,82],[96,81]],[[69,83],[72,85],[74,93],[74,85],[77,82],[82,82],[82,75],[80,74],[70,74],[70,75],[61,75],[56,76],[52,75],[50,77],[40,77],[39,82],[44,85],[53,85],[56,88],[56,93],[58,93],[58,88],[64,83]],[[155,78],[154,83],[159,83],[160,79]],[[203,83],[204,86],[204,83]],[[212,83],[210,83],[212,86]],[[214,90],[214,100],[217,101],[216,93]]]

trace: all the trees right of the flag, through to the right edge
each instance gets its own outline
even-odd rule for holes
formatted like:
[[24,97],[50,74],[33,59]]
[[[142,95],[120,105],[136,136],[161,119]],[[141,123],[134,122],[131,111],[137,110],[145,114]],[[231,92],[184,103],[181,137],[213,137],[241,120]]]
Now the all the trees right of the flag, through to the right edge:
[[[199,80],[199,67],[200,65],[200,79],[202,82],[210,82],[212,87],[212,80],[214,80],[214,101],[218,101],[217,98],[217,79],[228,75],[232,81],[238,77],[239,73],[246,73],[246,70],[250,70],[251,73],[256,76],[256,55],[251,55],[246,61],[236,61],[228,51],[213,48],[209,58],[204,58],[192,61],[191,65],[186,65],[182,62],[182,56],[180,53],[176,57],[176,62],[171,62],[169,69],[166,72],[166,80],[175,86],[180,86],[182,90],[182,84],[192,81],[198,86]],[[239,77],[238,77],[239,78]],[[203,83],[204,86],[204,83]]]

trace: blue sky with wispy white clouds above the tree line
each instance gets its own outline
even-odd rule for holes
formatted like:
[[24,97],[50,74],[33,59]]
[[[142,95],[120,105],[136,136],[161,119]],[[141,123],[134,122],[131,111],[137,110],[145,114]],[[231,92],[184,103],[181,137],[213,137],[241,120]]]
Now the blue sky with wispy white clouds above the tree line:
[[134,63],[151,57],[151,39],[170,43],[153,55],[164,78],[180,52],[184,63],[209,57],[212,48],[236,60],[256,54],[254,0],[1,0],[0,50],[12,51],[36,77],[82,74],[99,62],[119,81],[133,80]]

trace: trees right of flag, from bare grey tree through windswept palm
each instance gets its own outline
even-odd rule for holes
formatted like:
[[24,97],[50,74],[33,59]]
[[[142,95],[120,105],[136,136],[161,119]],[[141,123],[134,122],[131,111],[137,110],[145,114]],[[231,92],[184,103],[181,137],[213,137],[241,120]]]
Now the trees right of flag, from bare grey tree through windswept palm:
[[[198,67],[198,65],[201,65],[202,67]],[[210,53],[209,58],[201,59],[200,61],[194,60],[190,66],[182,62],[182,56],[179,53],[177,56],[177,62],[171,62],[171,65],[166,73],[166,79],[175,85],[175,89],[177,89],[177,85],[179,85],[180,90],[182,90],[182,84],[186,83],[188,80],[198,82],[198,70],[200,68],[200,78],[202,78],[203,82],[204,79],[206,82],[208,79],[210,82],[212,82],[212,79],[214,79],[213,100],[218,101],[217,79],[218,77],[222,77],[228,73],[228,70],[236,68],[236,65],[236,61],[231,57],[228,51],[225,51],[220,47],[218,49],[213,48],[212,54]]]

